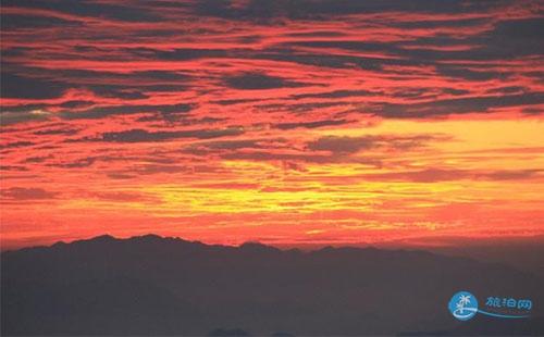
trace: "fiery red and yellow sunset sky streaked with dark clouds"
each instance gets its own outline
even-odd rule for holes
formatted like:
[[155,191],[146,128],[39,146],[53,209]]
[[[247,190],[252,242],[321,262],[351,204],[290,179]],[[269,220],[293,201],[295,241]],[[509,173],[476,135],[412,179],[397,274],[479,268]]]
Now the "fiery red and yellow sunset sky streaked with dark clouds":
[[2,248],[544,234],[544,2],[3,0]]

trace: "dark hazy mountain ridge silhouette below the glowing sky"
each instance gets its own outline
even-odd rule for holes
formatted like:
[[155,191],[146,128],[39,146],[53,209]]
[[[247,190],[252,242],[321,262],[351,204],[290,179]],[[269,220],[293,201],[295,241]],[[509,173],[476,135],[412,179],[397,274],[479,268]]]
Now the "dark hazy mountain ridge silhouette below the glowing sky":
[[[539,276],[425,251],[99,236],[3,252],[1,272],[3,336],[544,333]],[[532,319],[456,321],[459,290],[530,298]]]

